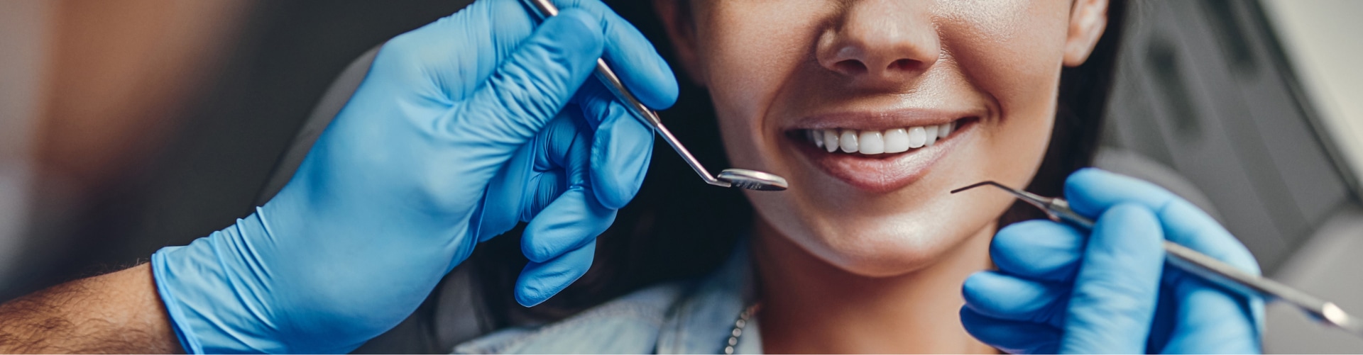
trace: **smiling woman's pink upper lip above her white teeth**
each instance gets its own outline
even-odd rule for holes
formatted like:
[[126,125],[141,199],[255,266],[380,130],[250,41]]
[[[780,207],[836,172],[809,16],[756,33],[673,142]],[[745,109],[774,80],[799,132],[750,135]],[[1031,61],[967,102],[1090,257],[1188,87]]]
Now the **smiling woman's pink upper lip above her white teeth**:
[[838,112],[816,114],[796,120],[786,129],[857,129],[885,131],[908,126],[925,126],[951,122],[966,117],[980,117],[984,113],[943,109],[898,109],[879,112]]

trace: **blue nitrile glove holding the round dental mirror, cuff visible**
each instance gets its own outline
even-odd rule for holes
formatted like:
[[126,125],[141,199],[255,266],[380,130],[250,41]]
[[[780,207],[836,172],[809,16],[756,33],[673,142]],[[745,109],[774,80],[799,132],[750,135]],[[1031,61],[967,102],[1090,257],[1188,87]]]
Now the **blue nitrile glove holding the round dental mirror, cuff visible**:
[[[653,132],[590,79],[605,53],[653,107],[668,65],[598,0],[542,23],[481,0],[388,41],[293,180],[256,214],[153,256],[192,352],[348,352],[406,318],[477,242],[529,222],[517,299],[590,267]],[[586,84],[583,84],[586,83]]]

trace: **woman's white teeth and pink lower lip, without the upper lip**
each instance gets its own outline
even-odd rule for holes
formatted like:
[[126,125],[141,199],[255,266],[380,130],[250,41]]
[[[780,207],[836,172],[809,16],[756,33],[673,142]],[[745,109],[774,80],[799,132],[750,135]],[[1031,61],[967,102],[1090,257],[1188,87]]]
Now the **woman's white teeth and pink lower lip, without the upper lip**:
[[786,136],[823,173],[866,192],[886,193],[923,177],[979,120],[890,129],[793,129]]

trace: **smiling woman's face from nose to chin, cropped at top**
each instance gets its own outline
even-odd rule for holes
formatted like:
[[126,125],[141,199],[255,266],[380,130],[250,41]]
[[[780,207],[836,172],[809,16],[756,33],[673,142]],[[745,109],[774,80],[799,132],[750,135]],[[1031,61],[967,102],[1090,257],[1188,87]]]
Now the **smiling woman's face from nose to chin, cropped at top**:
[[1084,61],[1107,10],[1105,0],[671,5],[664,20],[710,90],[733,166],[791,184],[747,192],[759,223],[867,276],[919,269],[992,231],[1010,197],[949,192],[1028,185],[1060,69]]

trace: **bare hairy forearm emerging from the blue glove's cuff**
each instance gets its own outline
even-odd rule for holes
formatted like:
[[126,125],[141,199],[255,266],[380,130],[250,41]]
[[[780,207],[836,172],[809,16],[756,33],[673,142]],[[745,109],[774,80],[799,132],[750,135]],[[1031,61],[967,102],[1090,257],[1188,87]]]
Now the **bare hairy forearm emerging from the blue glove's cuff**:
[[0,354],[181,352],[150,264],[0,305]]

